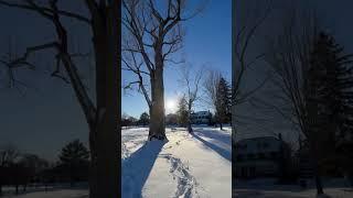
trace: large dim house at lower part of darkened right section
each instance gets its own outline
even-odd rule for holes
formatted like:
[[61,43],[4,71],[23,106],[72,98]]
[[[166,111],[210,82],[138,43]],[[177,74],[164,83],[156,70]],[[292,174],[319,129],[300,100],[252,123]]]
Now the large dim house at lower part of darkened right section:
[[235,144],[235,175],[238,178],[277,177],[289,146],[275,136],[244,139]]

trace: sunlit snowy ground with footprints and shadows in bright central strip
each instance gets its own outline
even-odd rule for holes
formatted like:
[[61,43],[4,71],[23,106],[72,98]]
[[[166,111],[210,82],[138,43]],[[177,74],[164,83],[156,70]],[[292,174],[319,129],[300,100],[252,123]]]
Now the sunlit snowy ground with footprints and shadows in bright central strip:
[[232,197],[231,128],[167,129],[168,142],[147,142],[147,128],[121,136],[124,198]]

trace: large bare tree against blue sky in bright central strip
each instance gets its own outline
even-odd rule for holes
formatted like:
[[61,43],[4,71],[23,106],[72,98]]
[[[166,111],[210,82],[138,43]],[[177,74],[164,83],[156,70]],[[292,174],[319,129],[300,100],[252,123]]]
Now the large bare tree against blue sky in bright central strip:
[[185,0],[169,0],[164,4],[154,0],[124,0],[122,4],[124,69],[137,76],[128,87],[138,85],[149,106],[149,140],[164,140],[164,66],[167,62],[175,63],[172,55],[182,47],[181,23],[196,15],[204,3],[193,11],[188,11]]

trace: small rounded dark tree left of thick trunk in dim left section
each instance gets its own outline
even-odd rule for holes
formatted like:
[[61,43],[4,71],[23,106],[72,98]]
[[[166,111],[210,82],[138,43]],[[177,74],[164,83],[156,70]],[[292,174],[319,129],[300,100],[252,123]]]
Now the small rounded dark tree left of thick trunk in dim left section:
[[71,184],[74,185],[76,180],[83,179],[83,174],[87,173],[89,152],[85,145],[75,140],[66,144],[58,156],[60,165],[69,176]]

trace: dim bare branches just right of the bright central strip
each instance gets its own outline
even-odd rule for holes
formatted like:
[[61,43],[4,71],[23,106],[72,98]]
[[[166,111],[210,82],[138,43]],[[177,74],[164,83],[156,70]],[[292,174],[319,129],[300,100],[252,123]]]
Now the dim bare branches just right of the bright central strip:
[[[242,3],[240,1],[236,1]],[[255,6],[253,6],[253,2]],[[232,128],[233,134],[236,132],[236,123],[237,123],[237,112],[236,107],[240,103],[247,101],[254,94],[264,87],[268,77],[260,80],[258,85],[250,89],[244,90],[243,84],[245,81],[245,74],[247,70],[252,69],[254,65],[261,62],[264,59],[265,53],[258,53],[255,56],[250,55],[252,51],[252,42],[256,38],[256,33],[259,31],[260,26],[265,23],[265,21],[269,18],[271,13],[271,1],[267,0],[265,2],[258,3],[257,1],[247,1],[244,4],[249,4],[248,8],[244,8],[243,10],[236,9],[238,6],[243,8],[242,4],[233,3],[233,18],[235,19],[235,25],[233,26],[233,47],[235,52],[234,58],[234,67],[233,67],[233,79],[232,79],[232,95],[233,95],[233,107],[232,107]],[[235,138],[235,135],[233,135]]]

